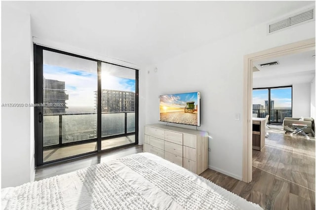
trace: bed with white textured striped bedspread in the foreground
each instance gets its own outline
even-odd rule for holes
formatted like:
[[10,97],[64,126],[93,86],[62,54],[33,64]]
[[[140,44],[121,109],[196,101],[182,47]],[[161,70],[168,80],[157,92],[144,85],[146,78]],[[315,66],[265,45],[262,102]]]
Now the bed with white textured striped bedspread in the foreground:
[[151,153],[1,189],[2,210],[262,210]]

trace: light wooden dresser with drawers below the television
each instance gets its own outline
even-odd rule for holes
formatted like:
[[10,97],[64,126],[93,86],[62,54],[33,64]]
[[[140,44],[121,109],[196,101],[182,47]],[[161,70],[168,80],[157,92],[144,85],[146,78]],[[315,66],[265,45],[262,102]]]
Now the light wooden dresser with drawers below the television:
[[144,152],[200,174],[208,168],[208,133],[160,124],[146,125]]

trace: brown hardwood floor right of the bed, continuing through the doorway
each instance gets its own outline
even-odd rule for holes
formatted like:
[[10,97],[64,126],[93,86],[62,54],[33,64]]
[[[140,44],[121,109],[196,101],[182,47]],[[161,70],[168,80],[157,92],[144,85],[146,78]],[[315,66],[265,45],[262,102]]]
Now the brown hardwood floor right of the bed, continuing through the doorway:
[[252,152],[250,183],[211,169],[201,176],[264,210],[315,210],[315,138],[269,133]]

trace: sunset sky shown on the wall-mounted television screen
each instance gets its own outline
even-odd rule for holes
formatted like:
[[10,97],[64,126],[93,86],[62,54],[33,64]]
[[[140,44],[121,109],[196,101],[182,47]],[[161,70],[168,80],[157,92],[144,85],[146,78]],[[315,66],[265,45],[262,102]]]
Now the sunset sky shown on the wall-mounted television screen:
[[197,92],[160,95],[160,106],[183,108],[189,101],[194,101],[197,105]]

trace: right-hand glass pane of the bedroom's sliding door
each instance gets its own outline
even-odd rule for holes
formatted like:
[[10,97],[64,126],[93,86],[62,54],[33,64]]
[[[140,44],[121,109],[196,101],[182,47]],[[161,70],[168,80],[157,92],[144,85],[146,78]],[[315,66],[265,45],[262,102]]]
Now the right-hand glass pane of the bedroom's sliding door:
[[122,66],[101,64],[102,150],[135,143],[135,73]]

